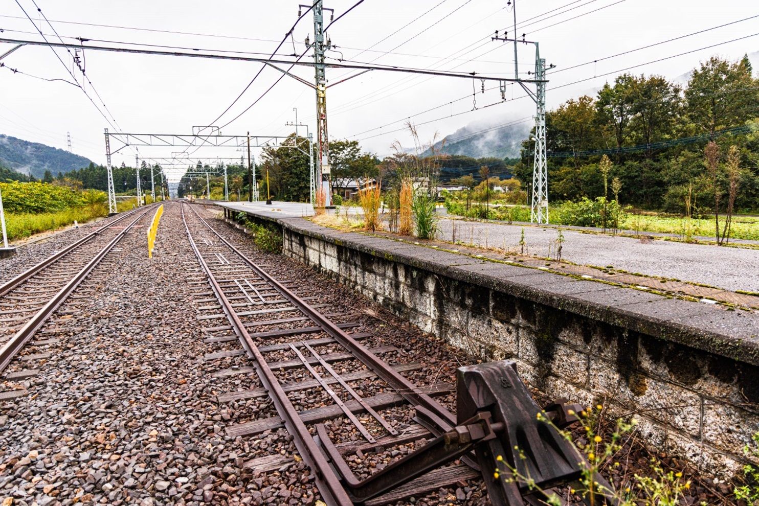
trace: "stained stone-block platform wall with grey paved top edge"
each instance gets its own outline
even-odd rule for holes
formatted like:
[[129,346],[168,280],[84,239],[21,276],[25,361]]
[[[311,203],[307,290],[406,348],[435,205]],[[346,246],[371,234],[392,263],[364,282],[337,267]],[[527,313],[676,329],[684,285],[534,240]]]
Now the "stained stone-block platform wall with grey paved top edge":
[[[301,218],[276,222],[286,256],[469,354],[517,360],[528,385],[552,397],[635,413],[647,443],[707,473],[738,470],[743,446],[759,431],[753,313],[723,316],[713,311],[731,312]],[[709,325],[690,326],[706,318]],[[733,335],[721,335],[720,325]]]

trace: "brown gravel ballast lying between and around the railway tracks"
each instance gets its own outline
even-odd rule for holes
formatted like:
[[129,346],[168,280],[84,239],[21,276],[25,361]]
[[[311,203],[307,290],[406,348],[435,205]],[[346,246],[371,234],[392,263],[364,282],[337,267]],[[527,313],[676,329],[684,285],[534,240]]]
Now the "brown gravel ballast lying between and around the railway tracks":
[[[257,265],[286,279],[300,297],[317,297],[309,302],[325,304],[321,312],[337,323],[349,323],[346,332],[370,334],[362,338],[362,344],[388,348],[380,356],[395,366],[407,367],[403,374],[417,385],[455,382],[455,368],[474,363],[460,350],[425,335],[350,288],[292,259],[262,253],[250,236],[219,219],[217,210],[195,209]],[[213,306],[213,302],[200,299],[213,296],[197,295],[210,288],[198,281],[203,274],[184,232],[180,204],[166,204],[152,260],[146,258],[149,220],[143,219],[139,225],[39,332],[36,339],[47,344],[23,352],[44,352],[49,357],[11,363],[8,371],[33,366],[40,372],[17,382],[3,382],[4,390],[26,388],[28,394],[0,401],[0,498],[27,506],[320,504],[310,472],[286,429],[228,435],[231,427],[277,413],[266,395],[219,400],[222,394],[260,388],[261,383],[254,374],[216,374],[250,366],[250,361],[240,354],[210,355],[235,352],[241,345],[238,341],[209,341],[225,335],[226,331],[213,328],[228,325],[226,319],[198,319],[207,313],[201,306]],[[69,241],[76,240],[74,234]],[[39,256],[38,262],[52,250],[55,247],[51,249],[48,243],[31,245],[28,255],[30,259]],[[7,269],[0,267],[0,272],[11,275],[12,269],[27,267],[19,262]],[[278,328],[310,325],[298,316],[291,311],[250,316],[244,322],[292,319]],[[307,335],[308,339],[315,337]],[[289,341],[257,340],[261,345],[282,342]],[[326,354],[339,347],[328,344],[318,349]],[[291,350],[266,354],[271,361],[293,357]],[[332,366],[340,374],[360,369],[354,360]],[[321,366],[317,369],[326,374]],[[310,379],[302,368],[277,369],[276,376],[282,382]],[[364,397],[387,389],[373,378],[350,384]],[[291,391],[288,398],[304,410],[332,404],[318,388]],[[449,409],[455,407],[452,392],[443,392],[436,400]],[[413,426],[410,417],[414,410],[408,405],[381,413],[396,429]],[[383,429],[370,417],[360,418],[371,432],[382,434]],[[347,418],[325,424],[335,444],[361,442],[361,435]],[[313,426],[310,430],[315,432]],[[348,462],[357,475],[368,476],[369,470],[382,469],[417,447],[418,442],[411,442],[378,452],[364,451]],[[266,467],[262,464],[265,460],[275,466]],[[257,464],[251,468],[250,462]],[[474,478],[398,504],[489,503],[481,479]]]

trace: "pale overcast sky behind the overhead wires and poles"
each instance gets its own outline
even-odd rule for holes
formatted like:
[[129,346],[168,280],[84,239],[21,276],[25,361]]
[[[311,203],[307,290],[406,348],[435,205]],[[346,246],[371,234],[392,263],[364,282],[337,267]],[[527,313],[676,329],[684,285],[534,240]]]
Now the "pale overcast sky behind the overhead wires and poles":
[[[43,33],[52,34],[32,0],[18,2]],[[215,52],[260,52],[266,56],[298,17],[298,0],[36,2],[66,42],[72,42],[66,36],[81,36],[115,41],[118,43],[110,45],[116,46],[130,42]],[[355,0],[329,0],[325,7],[334,8],[337,17],[354,3]],[[5,32],[0,36],[41,39],[15,0],[5,0],[2,5],[0,28]],[[338,46],[336,51],[329,52],[333,58],[330,61],[345,58],[367,62],[376,58],[379,64],[513,77],[513,46],[490,41],[495,30],[502,32],[506,27],[512,30],[511,9],[505,0],[365,0],[329,29],[332,43]],[[606,80],[613,80],[622,69],[638,64],[644,65],[630,71],[674,79],[711,55],[740,58],[746,52],[759,50],[759,17],[754,17],[593,63],[666,39],[757,16],[759,4],[752,0],[517,0],[516,9],[517,33],[520,36],[526,33],[528,40],[539,41],[540,55],[547,63],[556,65],[549,75],[549,108],[572,96],[592,93]],[[294,30],[294,47],[293,42],[288,41],[279,53],[286,57],[294,50],[302,52],[303,41],[312,32],[313,20],[309,14]],[[748,38],[739,41],[722,43],[746,36]],[[313,35],[310,37],[313,39]],[[48,39],[58,40],[54,35]],[[717,44],[719,46],[710,49],[647,64]],[[0,54],[11,47],[7,43],[0,44]],[[526,73],[534,68],[534,48],[520,45],[518,50],[520,71]],[[58,55],[71,69],[71,56],[62,49]],[[87,76],[121,131],[130,133],[190,134],[193,125],[209,124],[221,114],[262,65],[97,51],[87,51],[85,56]],[[563,70],[586,62],[591,63]],[[71,80],[64,65],[46,46],[21,48],[4,58],[3,63],[38,77]],[[313,80],[311,68],[298,68],[296,73]],[[74,75],[80,80],[78,69]],[[225,124],[238,115],[281,75],[271,68],[263,70],[216,124]],[[345,75],[350,74],[342,69],[327,70],[332,83]],[[524,77],[528,76],[524,74]],[[584,81],[562,86],[578,80]],[[383,156],[392,151],[394,140],[406,148],[413,146],[408,131],[403,130],[404,119],[411,115],[414,115],[411,120],[420,125],[422,140],[431,140],[436,132],[444,136],[467,125],[474,129],[486,128],[523,120],[533,114],[534,103],[520,98],[524,91],[518,85],[508,86],[506,102],[483,108],[501,100],[497,87],[487,90],[493,86],[497,85],[485,83],[486,92],[481,93],[480,80],[372,71],[328,90],[329,134],[331,138],[361,140],[364,149]],[[555,86],[559,87],[552,90]],[[90,86],[84,87],[99,103]],[[69,131],[74,152],[95,162],[105,162],[102,132],[108,124],[82,90],[61,81],[48,82],[12,74],[3,68],[0,69],[0,97],[0,133],[65,149]],[[475,107],[477,109],[472,110]],[[285,77],[241,118],[224,127],[222,133],[245,134],[250,130],[251,134],[287,135],[292,128],[286,127],[285,122],[294,121],[293,108],[298,108],[298,121],[307,123],[313,132],[313,90]],[[433,110],[417,115],[428,109]],[[377,129],[380,126],[383,128]],[[148,148],[140,149],[143,156],[170,156],[175,151],[181,149],[153,148],[150,152]],[[211,161],[216,156],[240,156],[240,153],[235,149],[202,149],[195,156]],[[134,152],[124,149],[123,155],[115,156],[114,163],[120,164],[122,160],[134,163]]]

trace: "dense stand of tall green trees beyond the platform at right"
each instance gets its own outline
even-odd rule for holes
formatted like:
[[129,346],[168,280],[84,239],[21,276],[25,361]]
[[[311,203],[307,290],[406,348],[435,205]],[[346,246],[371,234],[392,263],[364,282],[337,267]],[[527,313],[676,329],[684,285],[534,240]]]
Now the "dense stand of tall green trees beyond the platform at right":
[[[553,202],[603,196],[601,156],[613,161],[609,181],[619,178],[619,200],[645,209],[683,212],[692,192],[701,211],[715,188],[704,165],[704,146],[714,140],[726,156],[741,154],[737,209],[759,208],[759,80],[748,58],[710,58],[681,89],[660,76],[623,74],[597,96],[570,99],[546,115],[549,195]],[[534,143],[525,140],[515,177],[532,181]],[[726,174],[717,191],[726,192]]]

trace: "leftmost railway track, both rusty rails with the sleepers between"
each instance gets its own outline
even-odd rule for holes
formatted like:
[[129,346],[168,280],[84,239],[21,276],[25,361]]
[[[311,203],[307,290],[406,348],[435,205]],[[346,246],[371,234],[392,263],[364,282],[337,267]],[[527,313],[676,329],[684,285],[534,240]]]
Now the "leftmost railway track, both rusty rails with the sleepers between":
[[[0,372],[152,207],[124,213],[0,287]],[[118,223],[127,225],[115,226]]]

